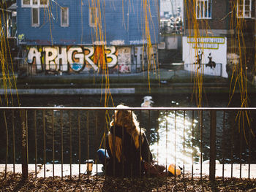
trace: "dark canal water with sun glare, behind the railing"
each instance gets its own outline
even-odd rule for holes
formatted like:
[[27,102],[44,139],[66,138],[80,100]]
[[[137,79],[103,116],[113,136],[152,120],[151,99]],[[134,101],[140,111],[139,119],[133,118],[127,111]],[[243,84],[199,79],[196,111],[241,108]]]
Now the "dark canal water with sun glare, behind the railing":
[[[108,107],[116,107],[118,104],[126,104],[129,107],[140,107],[143,97],[146,95],[113,95],[113,103],[109,101]],[[153,107],[196,107],[195,100],[189,94],[154,94]],[[253,98],[253,96],[252,96]],[[231,107],[239,107],[238,96],[235,96]],[[227,107],[228,95],[211,94],[204,96],[203,107]],[[256,106],[251,101],[251,106]],[[21,96],[22,107],[103,107],[104,96]],[[210,114],[209,112],[186,111],[135,111],[138,115],[140,126],[146,129],[148,142],[155,160],[160,164],[191,164],[200,161],[202,153],[203,161],[209,158],[210,146]],[[6,112],[7,128],[9,135],[8,162],[13,161],[13,134],[12,114]],[[106,117],[111,117],[113,112],[107,115],[105,111],[72,111],[60,112],[58,110],[42,110],[28,112],[29,127],[29,163],[34,164],[37,152],[37,163],[45,161],[48,164],[79,163],[79,145],[81,151],[81,163],[86,159],[96,159],[96,151],[104,147],[104,132],[107,130]],[[184,118],[185,115],[185,118]],[[45,119],[43,119],[45,117]],[[192,118],[194,117],[194,118]],[[200,124],[200,120],[203,124]],[[249,114],[251,128],[255,128],[256,114]],[[78,122],[79,119],[79,122]],[[111,118],[107,118],[110,120]],[[245,123],[244,130],[238,131],[237,112],[225,112],[225,129],[223,130],[223,112],[217,112],[217,160],[221,163],[256,163],[255,138],[250,137],[249,127]],[[21,162],[20,143],[21,128],[18,112],[15,113],[15,161]],[[71,123],[70,123],[71,122]],[[176,122],[176,123],[175,123]],[[193,126],[192,126],[193,122]],[[61,137],[61,125],[62,135]],[[45,141],[44,141],[45,127]],[[202,130],[200,129],[202,127]],[[80,128],[80,134],[79,129]],[[5,129],[5,128],[4,128]],[[6,131],[3,129],[3,133]],[[6,137],[0,136],[0,164],[5,162]],[[79,137],[80,135],[80,137]],[[201,138],[202,136],[202,138]],[[53,139],[54,138],[54,139]],[[246,138],[246,139],[244,139]],[[202,139],[202,142],[201,142]],[[80,143],[79,143],[80,140]],[[36,142],[37,141],[37,142]],[[252,141],[247,145],[246,141]],[[61,148],[61,142],[63,147]],[[71,146],[71,147],[70,147]],[[72,154],[72,155],[70,155]]]

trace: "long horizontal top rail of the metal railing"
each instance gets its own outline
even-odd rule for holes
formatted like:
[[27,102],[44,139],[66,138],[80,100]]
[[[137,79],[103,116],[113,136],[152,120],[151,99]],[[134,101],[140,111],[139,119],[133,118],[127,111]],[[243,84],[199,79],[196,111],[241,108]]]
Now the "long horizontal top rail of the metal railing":
[[0,110],[256,110],[256,107],[0,107]]

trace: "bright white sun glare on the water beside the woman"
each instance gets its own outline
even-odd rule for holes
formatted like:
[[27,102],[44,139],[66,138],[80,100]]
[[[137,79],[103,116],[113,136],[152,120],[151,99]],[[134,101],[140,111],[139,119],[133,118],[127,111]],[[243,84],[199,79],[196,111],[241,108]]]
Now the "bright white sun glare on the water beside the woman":
[[[191,164],[192,154],[199,150],[197,139],[192,137],[192,118],[183,112],[159,112],[157,142],[151,143],[151,151],[160,164]],[[198,121],[194,119],[193,127]],[[192,147],[194,145],[194,147]]]

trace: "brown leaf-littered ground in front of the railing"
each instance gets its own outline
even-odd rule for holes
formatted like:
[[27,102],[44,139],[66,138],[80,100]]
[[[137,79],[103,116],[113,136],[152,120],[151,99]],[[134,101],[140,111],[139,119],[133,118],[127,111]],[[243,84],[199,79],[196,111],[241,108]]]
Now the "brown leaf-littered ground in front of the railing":
[[113,178],[113,177],[89,177],[82,175],[81,179],[73,177],[48,178],[32,178],[29,175],[26,181],[21,180],[21,174],[12,172],[7,173],[4,178],[4,173],[0,173],[0,191],[256,191],[256,180],[241,180],[241,179],[225,179],[217,178],[215,185],[211,185],[208,178],[190,177],[175,178]]

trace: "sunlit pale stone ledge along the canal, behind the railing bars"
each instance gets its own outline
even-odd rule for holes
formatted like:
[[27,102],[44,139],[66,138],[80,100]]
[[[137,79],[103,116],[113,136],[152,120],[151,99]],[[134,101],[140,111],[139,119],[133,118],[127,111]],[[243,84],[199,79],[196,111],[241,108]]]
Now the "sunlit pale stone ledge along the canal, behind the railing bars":
[[[192,165],[186,164],[185,174],[192,173]],[[222,177],[222,164],[216,164],[216,177]],[[231,164],[224,165],[224,177],[231,177]],[[80,165],[80,174],[86,173],[86,164]],[[200,177],[200,164],[193,164],[194,177]],[[249,164],[241,164],[241,178],[248,178]],[[5,164],[0,164],[0,172],[5,172]],[[13,172],[13,164],[7,164],[7,172]],[[15,164],[15,172],[21,173],[21,164]],[[35,172],[35,165],[29,164],[29,173]],[[79,173],[79,165],[72,164],[72,177],[77,176]],[[94,164],[91,175],[102,175],[102,164]],[[209,165],[203,164],[202,175],[208,176]],[[54,175],[61,177],[61,164],[54,165]],[[70,175],[70,165],[63,164],[63,177]],[[44,165],[37,164],[37,177],[44,177]],[[45,177],[53,177],[53,165],[45,165]],[[233,164],[233,177],[240,178],[240,164]],[[250,178],[256,179],[256,164],[250,165]]]

